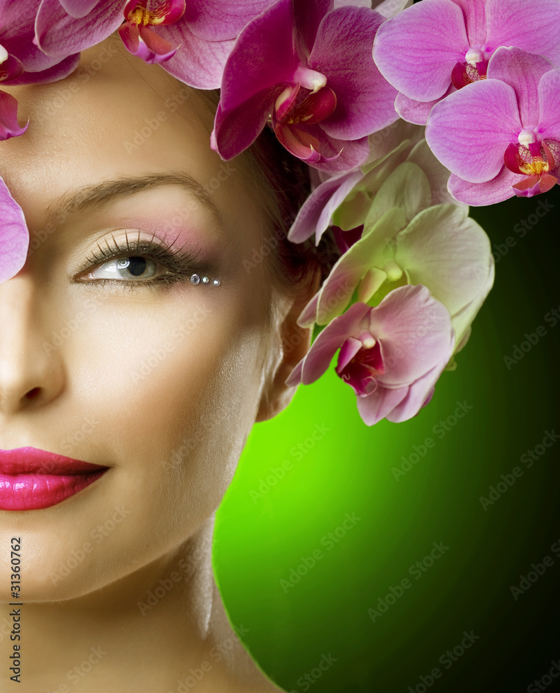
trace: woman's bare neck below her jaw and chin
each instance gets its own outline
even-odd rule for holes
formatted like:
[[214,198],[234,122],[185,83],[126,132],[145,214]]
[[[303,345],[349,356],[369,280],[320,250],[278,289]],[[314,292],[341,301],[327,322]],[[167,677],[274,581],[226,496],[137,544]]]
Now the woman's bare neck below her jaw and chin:
[[[94,593],[21,606],[21,685],[51,693],[277,690],[229,625],[213,579],[213,517],[173,554]],[[14,606],[2,604],[3,624]],[[3,627],[0,660],[13,642]],[[0,671],[11,690],[9,670]],[[259,687],[260,686],[260,687]]]

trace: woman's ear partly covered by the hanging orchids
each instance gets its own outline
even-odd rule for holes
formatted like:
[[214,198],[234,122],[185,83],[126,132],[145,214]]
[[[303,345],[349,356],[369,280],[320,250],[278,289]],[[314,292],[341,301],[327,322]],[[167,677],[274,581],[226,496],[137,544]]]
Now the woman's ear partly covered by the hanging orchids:
[[302,290],[301,294],[288,306],[274,345],[274,348],[279,350],[279,355],[272,364],[271,372],[261,392],[255,421],[273,419],[288,406],[295,394],[297,386],[288,387],[285,381],[295,366],[306,356],[313,335],[313,328],[300,327],[297,319],[308,301],[319,290],[320,284],[321,276],[320,272],[317,272],[307,290]]

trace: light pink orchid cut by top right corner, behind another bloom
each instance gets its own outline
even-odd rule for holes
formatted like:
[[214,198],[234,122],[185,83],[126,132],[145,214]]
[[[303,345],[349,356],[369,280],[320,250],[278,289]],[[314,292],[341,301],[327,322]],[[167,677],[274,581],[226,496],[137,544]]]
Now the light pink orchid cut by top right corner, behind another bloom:
[[401,118],[426,123],[432,106],[487,76],[500,46],[560,64],[557,0],[422,0],[380,27],[374,59],[399,89]]

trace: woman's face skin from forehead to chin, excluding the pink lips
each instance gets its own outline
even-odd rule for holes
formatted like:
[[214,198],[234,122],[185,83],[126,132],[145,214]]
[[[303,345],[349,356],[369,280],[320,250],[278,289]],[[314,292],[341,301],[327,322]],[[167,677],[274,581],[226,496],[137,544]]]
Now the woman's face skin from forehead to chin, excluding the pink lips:
[[254,263],[269,232],[240,164],[210,150],[200,96],[118,41],[6,91],[30,120],[0,174],[31,253],[0,285],[0,448],[109,467],[57,505],[1,511],[5,541],[24,536],[26,599],[67,599],[161,559],[218,506],[270,361]]

